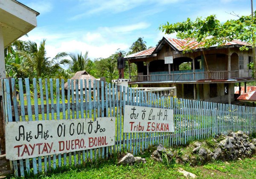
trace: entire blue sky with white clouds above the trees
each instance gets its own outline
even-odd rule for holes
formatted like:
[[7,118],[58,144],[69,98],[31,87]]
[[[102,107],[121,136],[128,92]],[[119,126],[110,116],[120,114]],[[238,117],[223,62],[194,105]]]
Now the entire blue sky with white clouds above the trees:
[[[128,52],[144,37],[155,46],[165,35],[157,28],[216,14],[222,22],[236,18],[228,13],[250,14],[250,0],[19,0],[38,11],[38,27],[28,33],[40,43],[46,39],[47,57],[58,52],[88,51],[90,59],[107,58],[117,49]],[[256,10],[256,5],[254,5]]]

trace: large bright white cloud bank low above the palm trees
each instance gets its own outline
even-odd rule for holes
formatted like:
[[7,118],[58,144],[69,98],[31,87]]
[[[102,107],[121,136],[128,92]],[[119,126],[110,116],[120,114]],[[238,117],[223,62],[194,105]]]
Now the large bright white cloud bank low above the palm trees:
[[[29,37],[23,36],[21,40],[32,40],[40,43],[46,40],[47,57],[53,58],[58,52],[80,53],[88,51],[88,56],[94,58],[107,58],[122,49],[127,51],[130,40],[127,33],[145,29],[150,24],[141,22],[127,26],[99,27],[95,31],[77,30],[73,32],[48,32],[44,28],[36,28],[29,32]],[[51,29],[47,27],[47,29]]]

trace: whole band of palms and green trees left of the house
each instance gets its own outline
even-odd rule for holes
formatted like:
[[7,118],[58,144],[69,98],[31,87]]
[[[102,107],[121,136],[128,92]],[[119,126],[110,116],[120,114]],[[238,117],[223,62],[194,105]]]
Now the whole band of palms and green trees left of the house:
[[[58,53],[54,58],[50,59],[46,56],[45,49],[46,40],[43,40],[39,46],[32,41],[20,41],[17,40],[11,46],[5,49],[6,71],[7,75],[14,78],[71,78],[75,72],[85,70],[95,78],[106,77],[108,82],[113,79],[117,79],[117,58],[118,53],[122,52],[126,57],[128,53],[124,51],[118,51],[110,55],[108,58],[97,58],[93,61],[88,58],[88,52],[84,55],[70,54],[70,60],[66,59],[67,53]],[[139,47],[139,51],[146,49],[146,42],[143,38],[138,38],[136,46]],[[132,49],[131,46],[130,49]],[[68,69],[65,70],[61,67],[61,64],[68,65]],[[129,78],[129,66],[125,61],[124,75],[125,78]],[[137,65],[130,64],[131,75],[137,75]]]

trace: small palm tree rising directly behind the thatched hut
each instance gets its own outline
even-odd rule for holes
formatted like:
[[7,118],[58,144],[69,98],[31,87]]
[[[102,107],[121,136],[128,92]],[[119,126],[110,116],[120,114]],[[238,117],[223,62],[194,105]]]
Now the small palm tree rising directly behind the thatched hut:
[[68,61],[69,69],[71,72],[78,72],[86,69],[88,58],[88,51],[84,55],[82,52],[80,54],[70,54],[71,60]]

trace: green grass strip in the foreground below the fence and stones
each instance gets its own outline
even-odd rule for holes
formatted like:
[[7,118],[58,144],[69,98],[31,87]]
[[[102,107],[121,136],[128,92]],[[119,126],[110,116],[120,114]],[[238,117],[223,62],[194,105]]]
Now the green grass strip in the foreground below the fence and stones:
[[[182,179],[185,177],[177,171],[179,167],[182,167],[184,170],[197,175],[198,179],[256,178],[256,156],[241,161],[216,161],[202,166],[191,167],[189,164],[181,165],[175,162],[156,162],[150,157],[153,150],[154,148],[150,148],[139,155],[146,159],[145,164],[136,164],[133,166],[118,165],[118,159],[124,156],[124,153],[121,153],[108,161],[102,160],[97,163],[87,163],[84,167],[79,168],[57,168],[52,173],[48,173],[47,175],[39,174],[37,177],[45,179]],[[13,178],[13,176],[9,177]]]

